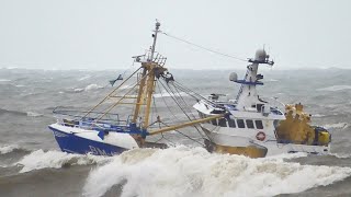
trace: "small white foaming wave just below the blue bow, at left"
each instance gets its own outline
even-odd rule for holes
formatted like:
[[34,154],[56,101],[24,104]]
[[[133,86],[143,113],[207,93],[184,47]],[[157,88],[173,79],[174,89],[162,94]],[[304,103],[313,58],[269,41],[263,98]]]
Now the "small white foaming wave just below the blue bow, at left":
[[60,169],[69,165],[90,165],[101,164],[111,161],[112,158],[97,157],[97,155],[82,155],[69,154],[60,151],[43,151],[36,150],[23,157],[19,162],[14,163],[16,166],[22,166],[20,173],[30,172],[41,169]]

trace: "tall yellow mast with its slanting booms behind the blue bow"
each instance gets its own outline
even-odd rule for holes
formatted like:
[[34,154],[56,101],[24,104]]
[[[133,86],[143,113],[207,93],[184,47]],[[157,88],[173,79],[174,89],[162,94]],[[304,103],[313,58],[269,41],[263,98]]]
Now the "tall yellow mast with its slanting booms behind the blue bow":
[[[129,80],[134,74],[138,72],[136,70],[132,76],[129,76],[124,82],[122,82],[114,91],[112,91],[105,99],[103,99],[98,105],[95,105],[93,108],[91,108],[86,115],[88,116],[91,112],[93,112],[98,106],[100,106],[102,103],[104,103],[107,99],[111,97],[118,97],[118,101],[115,102],[112,106],[107,107],[95,120],[100,120],[103,116],[105,116],[111,109],[113,109],[117,105],[127,104],[135,106],[132,117],[132,124],[131,131],[140,131],[140,134],[132,134],[132,136],[135,138],[135,140],[139,143],[139,146],[143,146],[145,142],[145,138],[148,135],[157,135],[160,132],[166,132],[183,127],[193,126],[200,123],[205,123],[212,119],[224,117],[226,114],[219,114],[202,119],[195,119],[188,123],[179,124],[179,125],[171,125],[166,128],[160,128],[157,130],[148,130],[148,127],[150,126],[149,118],[150,118],[150,109],[151,109],[151,102],[152,102],[152,94],[155,92],[155,85],[156,80],[160,77],[165,78],[165,72],[167,71],[167,68],[165,68],[165,63],[167,58],[162,57],[156,51],[156,42],[157,42],[157,35],[161,31],[160,23],[156,22],[154,34],[152,34],[152,46],[149,48],[149,51],[146,55],[141,56],[135,56],[135,61],[140,62],[141,67],[138,70],[141,70],[138,76],[137,83],[129,89],[124,95],[118,96],[115,95],[116,91],[127,81]],[[143,59],[141,59],[143,57]],[[136,90],[134,88],[137,88],[137,96],[131,95],[133,90]],[[132,99],[134,102],[123,102],[124,100]],[[158,121],[161,123],[160,118],[158,117]]]

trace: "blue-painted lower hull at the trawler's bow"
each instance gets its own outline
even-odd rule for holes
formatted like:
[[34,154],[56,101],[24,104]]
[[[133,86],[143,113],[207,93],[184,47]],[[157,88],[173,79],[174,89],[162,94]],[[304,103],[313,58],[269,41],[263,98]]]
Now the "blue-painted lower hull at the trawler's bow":
[[55,128],[49,127],[53,130],[55,139],[63,152],[94,155],[115,155],[120,154],[127,149],[102,143],[86,138],[81,138],[73,134],[63,132]]

